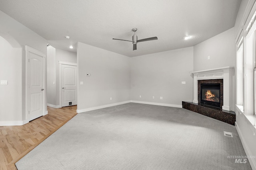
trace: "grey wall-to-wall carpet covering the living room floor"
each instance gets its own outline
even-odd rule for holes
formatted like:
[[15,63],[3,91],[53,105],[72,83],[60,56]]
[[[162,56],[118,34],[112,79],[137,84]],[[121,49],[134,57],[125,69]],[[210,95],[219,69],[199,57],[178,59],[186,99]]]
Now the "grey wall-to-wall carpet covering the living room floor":
[[[233,137],[224,136],[231,132]],[[251,170],[236,128],[182,108],[123,104],[80,113],[18,170]]]

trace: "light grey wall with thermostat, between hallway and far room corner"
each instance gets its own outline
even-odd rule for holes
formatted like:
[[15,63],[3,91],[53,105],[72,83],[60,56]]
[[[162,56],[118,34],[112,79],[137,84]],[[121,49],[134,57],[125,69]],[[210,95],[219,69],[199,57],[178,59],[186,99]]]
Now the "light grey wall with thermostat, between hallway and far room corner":
[[80,42],[77,46],[78,113],[130,101],[130,58]]

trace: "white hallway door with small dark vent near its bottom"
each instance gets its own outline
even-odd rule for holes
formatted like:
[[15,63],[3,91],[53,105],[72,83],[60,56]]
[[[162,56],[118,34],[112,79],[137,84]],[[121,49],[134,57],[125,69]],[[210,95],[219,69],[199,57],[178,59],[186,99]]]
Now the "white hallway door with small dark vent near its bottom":
[[62,107],[77,104],[76,67],[61,64]]

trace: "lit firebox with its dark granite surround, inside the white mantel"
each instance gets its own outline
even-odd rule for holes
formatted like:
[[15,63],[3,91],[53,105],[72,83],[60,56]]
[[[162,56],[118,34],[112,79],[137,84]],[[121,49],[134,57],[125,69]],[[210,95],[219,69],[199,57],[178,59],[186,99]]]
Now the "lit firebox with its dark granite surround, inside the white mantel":
[[223,79],[198,80],[198,104],[223,106]]

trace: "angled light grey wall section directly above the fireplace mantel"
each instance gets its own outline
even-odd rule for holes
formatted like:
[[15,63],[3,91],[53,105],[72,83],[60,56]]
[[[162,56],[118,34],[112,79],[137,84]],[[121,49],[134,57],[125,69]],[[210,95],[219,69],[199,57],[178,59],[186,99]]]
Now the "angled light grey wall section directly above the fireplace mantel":
[[234,27],[194,46],[194,71],[225,66],[236,66]]

